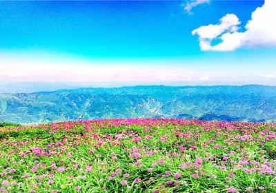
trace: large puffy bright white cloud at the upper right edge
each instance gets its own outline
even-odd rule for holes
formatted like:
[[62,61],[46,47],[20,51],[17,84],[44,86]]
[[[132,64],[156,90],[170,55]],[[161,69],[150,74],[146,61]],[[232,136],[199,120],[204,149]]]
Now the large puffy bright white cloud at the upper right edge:
[[[265,0],[246,23],[246,30],[239,32],[239,18],[235,14],[226,14],[220,23],[201,26],[192,34],[199,36],[201,50],[231,51],[242,47],[276,46],[276,1]],[[212,41],[221,42],[212,45]]]

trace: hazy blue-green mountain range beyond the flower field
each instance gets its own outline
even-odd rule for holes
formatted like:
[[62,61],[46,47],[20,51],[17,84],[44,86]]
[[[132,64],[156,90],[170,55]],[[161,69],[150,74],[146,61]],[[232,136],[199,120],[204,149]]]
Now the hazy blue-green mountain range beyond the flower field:
[[276,87],[157,85],[0,94],[0,122],[109,118],[276,122]]

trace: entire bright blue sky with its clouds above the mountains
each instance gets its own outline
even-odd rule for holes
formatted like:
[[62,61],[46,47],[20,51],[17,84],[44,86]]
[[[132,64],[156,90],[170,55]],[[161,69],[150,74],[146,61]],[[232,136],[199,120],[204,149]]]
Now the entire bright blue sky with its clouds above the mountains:
[[276,85],[276,1],[0,1],[0,81]]

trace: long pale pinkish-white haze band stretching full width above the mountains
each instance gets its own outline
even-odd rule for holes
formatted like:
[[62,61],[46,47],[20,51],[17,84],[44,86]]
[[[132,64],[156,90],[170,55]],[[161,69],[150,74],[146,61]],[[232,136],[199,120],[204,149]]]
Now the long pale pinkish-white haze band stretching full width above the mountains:
[[[235,64],[237,63],[235,61],[224,62],[226,64],[224,68],[214,66],[213,60],[202,62],[201,64],[201,61],[178,60],[101,61],[62,55],[0,52],[0,82],[90,83],[91,85],[276,84],[273,79],[276,70],[271,59],[266,62],[266,68],[262,68],[262,64],[256,63],[254,59],[255,67],[250,71],[248,65]],[[251,61],[247,62],[252,64]],[[188,65],[189,63],[193,65]]]

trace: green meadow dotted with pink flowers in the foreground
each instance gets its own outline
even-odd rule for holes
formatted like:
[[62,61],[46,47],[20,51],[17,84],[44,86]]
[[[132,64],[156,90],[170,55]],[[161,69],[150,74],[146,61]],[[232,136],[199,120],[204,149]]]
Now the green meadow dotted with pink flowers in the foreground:
[[275,137],[177,119],[0,128],[0,192],[276,192]]

